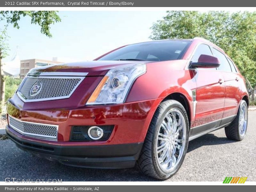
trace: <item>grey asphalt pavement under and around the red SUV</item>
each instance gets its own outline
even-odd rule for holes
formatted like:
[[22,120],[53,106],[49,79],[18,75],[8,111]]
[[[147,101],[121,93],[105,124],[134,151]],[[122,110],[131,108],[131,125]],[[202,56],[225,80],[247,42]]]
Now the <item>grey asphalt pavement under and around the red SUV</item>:
[[[249,111],[243,141],[228,140],[224,129],[189,142],[178,173],[168,181],[223,181],[225,177],[248,177],[256,181],[256,111]],[[156,181],[131,169],[86,169],[65,166],[30,155],[11,140],[0,140],[0,181],[18,179],[62,179],[62,181]]]

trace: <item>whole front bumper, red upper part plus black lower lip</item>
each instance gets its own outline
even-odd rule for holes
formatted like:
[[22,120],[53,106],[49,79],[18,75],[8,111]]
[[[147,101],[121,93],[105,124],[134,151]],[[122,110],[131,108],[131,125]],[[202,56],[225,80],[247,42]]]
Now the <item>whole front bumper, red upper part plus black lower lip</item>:
[[[65,99],[63,99],[65,100]],[[63,100],[55,103],[63,104]],[[22,102],[15,94],[7,105],[9,115],[21,121],[58,125],[57,140],[23,135],[6,126],[16,145],[61,164],[89,168],[130,168],[139,158],[151,118],[161,101],[144,100],[116,105],[53,108],[52,101]],[[67,102],[67,101],[66,101]],[[68,103],[68,102],[67,102]],[[113,125],[108,140],[71,141],[72,126]]]

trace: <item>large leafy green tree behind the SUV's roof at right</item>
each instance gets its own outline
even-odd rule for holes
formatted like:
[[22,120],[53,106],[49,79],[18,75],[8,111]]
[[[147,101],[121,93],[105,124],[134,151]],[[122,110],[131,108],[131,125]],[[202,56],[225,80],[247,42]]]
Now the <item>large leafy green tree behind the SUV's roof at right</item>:
[[[256,12],[168,11],[152,26],[153,40],[203,37],[221,47],[256,89]],[[254,104],[254,94],[252,94]]]

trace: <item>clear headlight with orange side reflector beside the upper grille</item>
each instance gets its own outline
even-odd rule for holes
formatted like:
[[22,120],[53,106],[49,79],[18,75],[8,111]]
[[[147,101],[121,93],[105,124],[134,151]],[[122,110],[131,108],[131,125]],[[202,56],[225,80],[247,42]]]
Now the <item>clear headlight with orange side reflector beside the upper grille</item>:
[[133,82],[144,73],[146,73],[146,64],[110,69],[86,104],[123,103]]

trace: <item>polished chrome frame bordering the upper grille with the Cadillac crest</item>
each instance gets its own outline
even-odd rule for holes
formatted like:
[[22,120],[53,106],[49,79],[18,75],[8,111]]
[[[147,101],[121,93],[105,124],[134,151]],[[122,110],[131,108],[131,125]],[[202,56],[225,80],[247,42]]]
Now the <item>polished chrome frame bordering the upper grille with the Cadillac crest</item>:
[[[62,72],[60,72],[62,73]],[[51,73],[52,74],[52,73]],[[66,74],[66,73],[65,73]],[[52,74],[53,75],[53,74]],[[65,79],[72,79],[72,78],[80,78],[80,81],[76,84],[76,86],[74,87],[74,89],[69,93],[69,95],[67,96],[61,96],[61,97],[51,97],[51,98],[44,98],[44,99],[25,99],[25,96],[20,92],[20,88],[22,87],[22,85],[25,83],[25,80],[23,82],[22,85],[20,85],[18,91],[16,92],[16,94],[18,95],[18,97],[23,101],[23,102],[37,102],[37,101],[49,101],[49,100],[60,100],[60,99],[68,99],[73,92],[75,92],[76,88],[82,83],[82,81],[85,79],[85,76],[27,76],[25,78],[65,78]],[[24,79],[25,79],[24,78]]]

